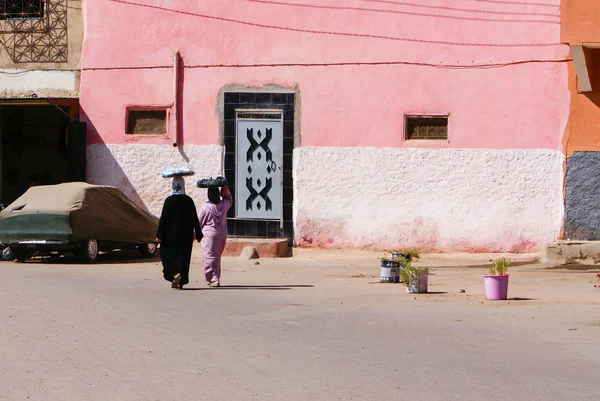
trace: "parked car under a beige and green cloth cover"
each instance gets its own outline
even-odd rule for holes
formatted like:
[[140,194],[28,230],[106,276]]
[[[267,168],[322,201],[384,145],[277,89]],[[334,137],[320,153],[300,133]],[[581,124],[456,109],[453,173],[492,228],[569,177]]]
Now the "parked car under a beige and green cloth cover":
[[73,252],[93,263],[100,252],[156,254],[158,218],[119,189],[82,182],[31,187],[0,212],[0,244],[20,262]]

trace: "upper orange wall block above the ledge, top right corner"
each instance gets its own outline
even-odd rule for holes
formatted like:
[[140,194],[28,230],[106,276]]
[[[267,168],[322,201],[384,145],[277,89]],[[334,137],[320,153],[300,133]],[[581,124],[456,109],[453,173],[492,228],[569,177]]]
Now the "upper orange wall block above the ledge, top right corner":
[[572,46],[600,42],[598,0],[561,1],[561,40]]

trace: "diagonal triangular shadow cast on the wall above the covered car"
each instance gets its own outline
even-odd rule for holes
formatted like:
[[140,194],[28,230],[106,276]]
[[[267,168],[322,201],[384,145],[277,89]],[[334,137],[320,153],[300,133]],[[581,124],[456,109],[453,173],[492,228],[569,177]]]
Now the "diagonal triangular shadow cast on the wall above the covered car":
[[[136,205],[147,212],[150,212],[142,197],[121,168],[119,162],[114,158],[112,152],[106,146],[106,143],[98,134],[94,122],[91,121],[81,108],[81,121],[87,122],[88,146],[86,154],[86,170],[87,182],[90,184],[111,185],[119,188],[125,195],[129,197]],[[99,149],[95,149],[93,154],[90,152],[90,145],[95,145]],[[100,157],[101,163],[96,163],[95,160]],[[98,168],[101,166],[101,169]]]

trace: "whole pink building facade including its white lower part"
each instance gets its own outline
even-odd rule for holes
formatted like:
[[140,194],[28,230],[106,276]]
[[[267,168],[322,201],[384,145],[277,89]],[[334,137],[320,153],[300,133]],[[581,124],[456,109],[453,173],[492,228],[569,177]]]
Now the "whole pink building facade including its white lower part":
[[[82,114],[90,126],[89,179],[122,186],[158,212],[167,185],[157,174],[165,163],[188,157],[203,174],[221,171],[219,91],[232,84],[275,84],[297,91],[298,244],[537,249],[560,235],[560,149],[569,112],[567,66],[560,62],[568,53],[560,44],[560,0],[548,3],[85,2],[80,91]],[[171,138],[140,139],[124,132],[127,106],[173,102],[170,66],[176,50],[186,66],[181,95],[185,156],[172,149]],[[324,65],[331,63],[377,65]],[[254,66],[272,64],[290,66]],[[449,140],[405,141],[405,113],[449,113]],[[381,151],[371,154],[369,147]],[[415,153],[404,149],[415,147],[424,149],[418,165],[411,160]],[[147,159],[140,160],[140,154]],[[380,164],[343,177],[344,183],[355,185],[336,189],[342,172],[327,160],[341,154],[339,163]],[[520,167],[514,166],[520,158]],[[431,178],[430,163],[435,163],[435,179],[426,179]],[[396,175],[386,167],[392,164],[399,168],[392,168]],[[496,192],[496,199],[481,194],[449,199],[441,188],[446,188],[448,170],[457,168],[461,185],[475,193],[478,188]],[[481,182],[482,168],[488,169],[491,182],[500,177],[496,186]],[[372,180],[378,188],[375,177],[386,171],[391,174],[388,187],[409,185],[419,194],[417,204],[403,200],[405,191],[382,187],[378,190],[385,196],[363,199],[375,202],[379,216],[346,209],[354,202],[360,209],[357,187]],[[331,185],[323,186],[319,179]],[[330,209],[315,200],[323,197]],[[467,198],[471,210],[488,210],[477,224],[465,224],[461,215],[458,203]],[[435,207],[421,210],[418,205]],[[539,221],[505,227],[523,213]],[[413,227],[419,218],[428,221],[428,229],[398,233],[398,226]]]

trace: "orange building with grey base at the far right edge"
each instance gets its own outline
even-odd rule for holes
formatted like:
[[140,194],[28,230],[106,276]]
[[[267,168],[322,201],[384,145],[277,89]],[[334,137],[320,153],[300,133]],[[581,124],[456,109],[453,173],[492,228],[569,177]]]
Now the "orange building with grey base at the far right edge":
[[564,237],[600,240],[600,7],[562,0],[561,40],[571,48]]

